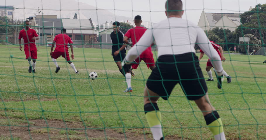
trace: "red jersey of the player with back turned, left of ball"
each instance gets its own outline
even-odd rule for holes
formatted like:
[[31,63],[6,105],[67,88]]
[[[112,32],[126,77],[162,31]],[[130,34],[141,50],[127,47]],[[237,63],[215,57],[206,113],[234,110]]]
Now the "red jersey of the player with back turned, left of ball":
[[58,34],[54,37],[53,41],[56,41],[56,52],[68,51],[68,43],[73,44],[71,38],[66,34]]

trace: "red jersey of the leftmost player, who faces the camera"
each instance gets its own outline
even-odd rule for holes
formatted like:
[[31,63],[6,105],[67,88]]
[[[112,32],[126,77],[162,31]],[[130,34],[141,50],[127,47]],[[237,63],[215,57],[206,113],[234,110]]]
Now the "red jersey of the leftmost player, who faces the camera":
[[[27,34],[26,34],[27,32]],[[24,40],[24,50],[29,50],[29,44],[30,44],[30,50],[37,50],[36,45],[35,45],[35,39],[32,40],[31,38],[37,37],[38,34],[34,29],[29,28],[29,30],[25,31],[25,29],[22,29],[19,32],[18,39],[23,38]],[[29,43],[30,41],[30,43]]]

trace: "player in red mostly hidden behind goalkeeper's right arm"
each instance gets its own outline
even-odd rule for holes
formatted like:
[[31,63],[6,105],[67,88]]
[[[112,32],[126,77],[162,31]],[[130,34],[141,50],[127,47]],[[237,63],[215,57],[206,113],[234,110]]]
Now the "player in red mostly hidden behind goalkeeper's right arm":
[[[217,53],[220,55],[221,60],[224,62],[225,58],[223,56],[223,50],[222,47],[215,44],[213,41],[210,41],[210,43],[213,45],[213,48],[217,51]],[[202,50],[200,50],[201,54],[200,57],[198,58],[198,60],[200,61],[201,58],[204,55],[204,52]],[[210,62],[210,59],[208,59],[207,65],[206,65],[206,71],[209,75],[209,79],[207,79],[206,81],[213,81],[213,74],[212,71],[210,70],[213,67],[212,63]],[[224,70],[223,70],[223,75],[227,78],[227,83],[231,83],[231,76],[228,75]]]

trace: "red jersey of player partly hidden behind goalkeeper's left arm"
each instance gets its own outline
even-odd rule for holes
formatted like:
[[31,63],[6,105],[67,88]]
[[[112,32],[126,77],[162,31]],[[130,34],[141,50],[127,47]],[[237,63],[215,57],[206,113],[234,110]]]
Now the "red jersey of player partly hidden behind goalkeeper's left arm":
[[[135,45],[139,39],[141,38],[141,36],[145,33],[147,29],[145,27],[134,27],[131,28],[127,31],[127,33],[125,34],[125,36],[127,36],[128,38],[131,38],[132,40],[132,45]],[[151,51],[151,46],[148,47],[144,52],[142,52],[139,55],[140,58],[153,58],[153,53]]]

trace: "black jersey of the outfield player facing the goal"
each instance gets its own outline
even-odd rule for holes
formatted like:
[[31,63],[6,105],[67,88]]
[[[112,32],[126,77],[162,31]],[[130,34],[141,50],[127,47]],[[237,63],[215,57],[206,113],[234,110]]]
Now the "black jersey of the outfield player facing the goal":
[[[114,31],[110,34],[110,37],[112,39],[113,45],[112,45],[112,53],[117,51],[119,48],[121,48],[124,44],[124,34],[122,31],[119,31],[117,34],[114,33]],[[118,37],[118,38],[117,38]],[[126,53],[126,49],[121,50],[121,53]]]

